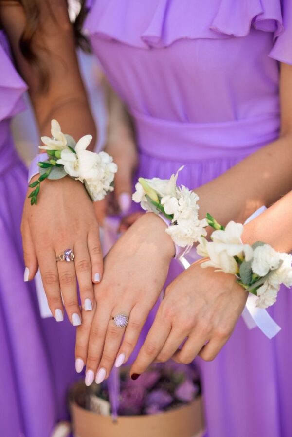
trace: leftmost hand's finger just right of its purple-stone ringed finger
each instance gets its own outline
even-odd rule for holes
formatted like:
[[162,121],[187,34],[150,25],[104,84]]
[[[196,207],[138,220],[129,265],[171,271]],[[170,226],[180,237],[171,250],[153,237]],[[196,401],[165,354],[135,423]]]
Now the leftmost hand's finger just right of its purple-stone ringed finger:
[[91,260],[86,242],[77,241],[74,245],[74,254],[81,305],[85,311],[90,311],[92,310],[94,294],[91,280]]

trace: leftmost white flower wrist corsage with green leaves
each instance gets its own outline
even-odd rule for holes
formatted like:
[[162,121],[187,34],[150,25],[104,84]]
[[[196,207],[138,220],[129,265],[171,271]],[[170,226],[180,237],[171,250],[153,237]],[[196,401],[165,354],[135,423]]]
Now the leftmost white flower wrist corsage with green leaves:
[[45,179],[61,179],[70,176],[84,184],[91,200],[102,200],[109,191],[113,191],[114,174],[117,165],[106,152],[91,152],[86,150],[92,140],[91,135],[85,135],[76,143],[74,139],[61,131],[56,120],[52,120],[52,138],[41,137],[46,151],[37,155],[29,170],[29,182],[39,173],[37,181],[30,183],[34,188],[30,193],[31,205],[37,204],[40,184]]

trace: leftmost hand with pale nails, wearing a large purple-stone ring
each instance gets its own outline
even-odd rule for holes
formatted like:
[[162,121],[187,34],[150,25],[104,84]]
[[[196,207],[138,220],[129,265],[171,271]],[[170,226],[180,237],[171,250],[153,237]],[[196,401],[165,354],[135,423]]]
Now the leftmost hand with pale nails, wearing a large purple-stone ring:
[[[80,324],[76,276],[82,307],[90,310],[94,302],[92,282],[99,282],[103,273],[98,223],[83,184],[69,177],[42,182],[37,205],[25,200],[21,232],[25,280],[33,279],[39,266],[56,320],[63,320],[63,296],[69,320]],[[66,249],[73,250],[74,261],[56,262],[56,256]]]

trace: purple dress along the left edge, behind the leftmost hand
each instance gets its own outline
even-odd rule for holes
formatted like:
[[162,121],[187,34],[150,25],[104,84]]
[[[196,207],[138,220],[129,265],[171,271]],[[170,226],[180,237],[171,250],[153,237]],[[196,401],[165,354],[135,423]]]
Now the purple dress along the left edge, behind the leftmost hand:
[[26,85],[1,31],[0,66],[0,436],[49,437],[68,415],[75,329],[68,320],[41,320],[34,284],[23,282],[20,222],[27,169],[14,148],[10,121],[24,108]]

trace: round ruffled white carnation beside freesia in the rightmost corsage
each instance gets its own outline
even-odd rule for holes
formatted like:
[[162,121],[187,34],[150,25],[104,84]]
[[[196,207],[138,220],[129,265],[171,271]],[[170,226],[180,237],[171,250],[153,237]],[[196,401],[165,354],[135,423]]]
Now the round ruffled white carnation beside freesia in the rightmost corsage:
[[270,270],[277,269],[281,261],[280,255],[269,244],[256,247],[252,262],[253,272],[258,276],[265,276]]

